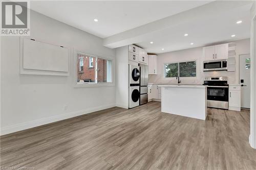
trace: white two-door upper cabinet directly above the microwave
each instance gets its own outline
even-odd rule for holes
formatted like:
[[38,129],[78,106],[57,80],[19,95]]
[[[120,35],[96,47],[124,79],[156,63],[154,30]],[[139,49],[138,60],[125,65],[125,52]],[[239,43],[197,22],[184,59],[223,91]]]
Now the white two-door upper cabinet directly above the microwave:
[[221,60],[228,58],[228,44],[219,44],[203,47],[205,60]]

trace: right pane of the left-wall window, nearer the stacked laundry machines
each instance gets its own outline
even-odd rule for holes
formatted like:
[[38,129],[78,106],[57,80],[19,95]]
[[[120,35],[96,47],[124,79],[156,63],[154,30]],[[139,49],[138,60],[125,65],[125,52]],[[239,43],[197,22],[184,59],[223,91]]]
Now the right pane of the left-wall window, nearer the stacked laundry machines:
[[112,82],[112,61],[98,58],[98,82]]

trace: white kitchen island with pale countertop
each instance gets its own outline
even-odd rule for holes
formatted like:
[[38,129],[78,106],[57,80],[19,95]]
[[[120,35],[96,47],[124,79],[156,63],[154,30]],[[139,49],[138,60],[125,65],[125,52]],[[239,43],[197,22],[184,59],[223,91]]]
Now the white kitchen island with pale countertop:
[[159,85],[162,89],[161,111],[205,120],[207,91],[203,85]]

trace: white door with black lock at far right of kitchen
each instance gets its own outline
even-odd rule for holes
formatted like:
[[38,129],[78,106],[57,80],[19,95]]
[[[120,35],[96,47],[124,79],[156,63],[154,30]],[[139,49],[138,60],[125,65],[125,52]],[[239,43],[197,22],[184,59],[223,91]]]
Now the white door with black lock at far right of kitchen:
[[250,108],[250,55],[240,55],[241,107]]

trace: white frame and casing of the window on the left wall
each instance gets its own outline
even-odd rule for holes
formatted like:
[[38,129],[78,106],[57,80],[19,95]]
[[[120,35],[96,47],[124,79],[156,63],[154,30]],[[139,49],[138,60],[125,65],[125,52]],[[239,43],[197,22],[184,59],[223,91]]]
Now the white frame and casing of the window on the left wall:
[[[88,57],[95,57],[95,66],[93,67],[94,71],[95,71],[95,82],[82,82],[79,83],[77,82],[77,63],[78,63],[78,54],[80,55],[84,55],[84,56],[88,56]],[[104,60],[110,60],[111,61],[111,82],[98,82],[97,81],[97,76],[98,76],[98,70],[97,70],[97,61],[98,58],[100,59],[104,59]],[[84,70],[83,70],[84,71]],[[91,54],[87,54],[87,53],[82,53],[80,51],[75,51],[74,53],[74,87],[75,88],[80,88],[80,87],[102,87],[102,86],[115,86],[115,82],[114,82],[114,59],[113,58],[108,58],[108,57],[100,57],[100,56],[96,56],[96,55],[91,55]]]

